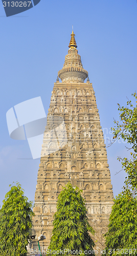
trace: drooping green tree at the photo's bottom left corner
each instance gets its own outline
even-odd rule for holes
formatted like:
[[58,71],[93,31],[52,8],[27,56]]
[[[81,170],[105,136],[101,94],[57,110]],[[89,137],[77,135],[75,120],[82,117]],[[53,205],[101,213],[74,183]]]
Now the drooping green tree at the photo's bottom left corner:
[[32,202],[24,196],[21,185],[10,185],[0,210],[0,255],[26,256],[32,227]]

